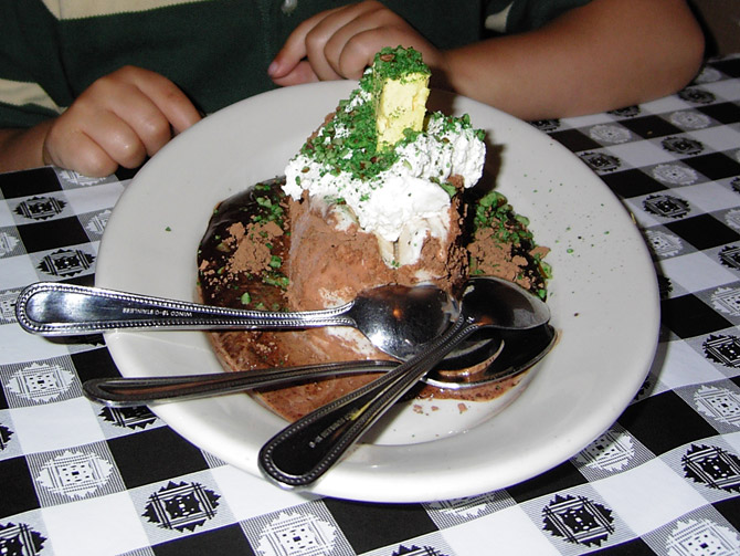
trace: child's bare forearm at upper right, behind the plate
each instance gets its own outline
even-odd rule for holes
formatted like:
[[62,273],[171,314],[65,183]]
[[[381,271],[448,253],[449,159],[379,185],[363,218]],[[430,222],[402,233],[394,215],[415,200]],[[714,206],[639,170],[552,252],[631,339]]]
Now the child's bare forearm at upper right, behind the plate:
[[446,86],[525,119],[670,94],[696,74],[704,38],[683,0],[594,0],[545,28],[445,53]]

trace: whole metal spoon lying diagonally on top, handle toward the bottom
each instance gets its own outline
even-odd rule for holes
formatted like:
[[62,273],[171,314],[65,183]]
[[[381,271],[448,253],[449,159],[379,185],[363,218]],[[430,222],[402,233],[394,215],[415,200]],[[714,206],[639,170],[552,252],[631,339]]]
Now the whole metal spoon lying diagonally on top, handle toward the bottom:
[[463,292],[459,317],[447,332],[387,375],[286,427],[260,451],[260,468],[282,486],[311,484],[471,334],[486,327],[531,329],[546,324],[549,316],[547,305],[522,289],[501,281],[471,279]]

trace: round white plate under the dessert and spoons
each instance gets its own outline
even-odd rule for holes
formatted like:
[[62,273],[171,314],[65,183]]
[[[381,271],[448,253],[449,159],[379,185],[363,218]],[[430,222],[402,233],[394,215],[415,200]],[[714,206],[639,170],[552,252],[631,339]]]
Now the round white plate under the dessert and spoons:
[[[116,206],[101,245],[97,285],[193,300],[197,246],[215,203],[282,174],[353,86],[327,82],[274,91],[178,136]],[[552,248],[549,303],[561,338],[527,389],[495,418],[427,442],[361,444],[314,486],[318,494],[421,502],[532,478],[616,420],[654,355],[655,273],[617,199],[575,156],[530,125],[467,98],[436,98],[447,104],[445,112],[468,113],[476,127],[487,129],[489,150],[500,154],[498,189],[530,218],[538,242]],[[106,340],[125,376],[221,370],[202,333],[109,333]],[[198,447],[257,475],[257,451],[284,426],[241,394],[155,410]]]

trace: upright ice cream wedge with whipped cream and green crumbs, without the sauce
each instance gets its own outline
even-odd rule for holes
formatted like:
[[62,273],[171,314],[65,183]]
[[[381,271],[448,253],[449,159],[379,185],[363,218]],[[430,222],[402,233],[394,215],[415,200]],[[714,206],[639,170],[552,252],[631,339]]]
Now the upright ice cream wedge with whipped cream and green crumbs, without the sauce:
[[[287,165],[283,189],[299,201],[288,276],[296,307],[327,306],[382,283],[450,290],[466,276],[457,192],[480,178],[486,148],[467,118],[426,116],[429,77],[417,52],[381,51]],[[362,245],[348,246],[350,235]],[[315,245],[327,241],[346,254],[336,280],[329,269],[305,272],[321,265]]]

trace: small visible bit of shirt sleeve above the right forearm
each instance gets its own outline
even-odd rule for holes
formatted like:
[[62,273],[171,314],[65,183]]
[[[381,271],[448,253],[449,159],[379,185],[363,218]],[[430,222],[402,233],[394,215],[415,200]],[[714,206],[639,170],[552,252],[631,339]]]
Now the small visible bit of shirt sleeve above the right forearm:
[[539,29],[558,15],[591,0],[491,0],[486,8],[486,28],[498,33],[522,33]]

